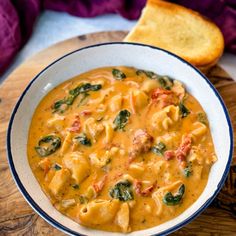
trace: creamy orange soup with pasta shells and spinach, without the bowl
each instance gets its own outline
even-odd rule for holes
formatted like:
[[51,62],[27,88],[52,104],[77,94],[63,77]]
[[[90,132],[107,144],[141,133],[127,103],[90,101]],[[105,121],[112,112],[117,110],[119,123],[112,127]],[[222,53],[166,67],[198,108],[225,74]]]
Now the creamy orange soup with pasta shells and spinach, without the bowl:
[[106,67],[43,98],[28,160],[58,211],[87,227],[125,233],[184,212],[217,158],[206,114],[181,82]]

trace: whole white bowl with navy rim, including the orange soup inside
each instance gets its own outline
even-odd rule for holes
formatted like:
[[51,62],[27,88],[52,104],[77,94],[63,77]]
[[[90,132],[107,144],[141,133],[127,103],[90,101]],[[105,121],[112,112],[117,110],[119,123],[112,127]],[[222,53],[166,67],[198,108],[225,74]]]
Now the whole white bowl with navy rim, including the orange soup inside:
[[9,165],[48,223],[71,235],[169,234],[223,186],[232,127],[213,85],[165,50],[69,53],[40,72],[9,123]]

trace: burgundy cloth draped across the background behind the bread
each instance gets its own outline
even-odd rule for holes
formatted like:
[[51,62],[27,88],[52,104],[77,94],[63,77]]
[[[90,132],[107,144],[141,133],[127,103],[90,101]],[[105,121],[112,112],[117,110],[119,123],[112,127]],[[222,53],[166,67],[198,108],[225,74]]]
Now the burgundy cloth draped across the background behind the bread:
[[[226,50],[236,54],[236,0],[171,0],[212,19],[222,30]],[[79,17],[117,13],[138,19],[146,0],[0,0],[0,74],[30,37],[44,9]]]

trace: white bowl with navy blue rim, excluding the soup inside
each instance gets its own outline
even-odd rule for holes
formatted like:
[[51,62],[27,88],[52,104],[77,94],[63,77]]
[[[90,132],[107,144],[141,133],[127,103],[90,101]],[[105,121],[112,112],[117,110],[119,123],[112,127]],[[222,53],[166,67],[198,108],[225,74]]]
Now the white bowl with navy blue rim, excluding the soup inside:
[[196,68],[170,52],[134,43],[99,44],[69,53],[40,72],[21,95],[10,119],[7,151],[12,175],[26,201],[48,223],[71,235],[122,234],[85,228],[52,206],[27,160],[31,118],[39,101],[55,86],[94,68],[119,65],[151,70],[182,81],[207,113],[218,157],[218,161],[211,168],[207,186],[192,206],[170,221],[129,235],[169,234],[189,223],[212,202],[223,186],[230,168],[233,132],[227,109],[213,85]]

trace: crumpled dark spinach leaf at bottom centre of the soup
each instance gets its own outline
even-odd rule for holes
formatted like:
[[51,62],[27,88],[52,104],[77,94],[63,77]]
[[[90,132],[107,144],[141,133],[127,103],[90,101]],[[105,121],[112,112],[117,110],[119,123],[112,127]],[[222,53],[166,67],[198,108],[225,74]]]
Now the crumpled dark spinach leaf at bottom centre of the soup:
[[110,189],[109,194],[112,198],[119,199],[120,201],[128,201],[134,199],[133,192],[131,190],[132,184],[126,180],[117,183],[112,189]]

